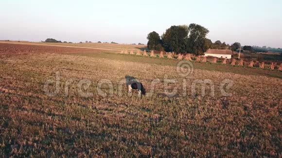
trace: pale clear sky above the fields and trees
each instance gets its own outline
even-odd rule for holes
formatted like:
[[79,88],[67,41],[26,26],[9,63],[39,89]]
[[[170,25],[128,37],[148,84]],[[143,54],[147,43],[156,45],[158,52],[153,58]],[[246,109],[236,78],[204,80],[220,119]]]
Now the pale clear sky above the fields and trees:
[[190,23],[212,42],[282,47],[282,0],[0,0],[0,40],[146,44]]

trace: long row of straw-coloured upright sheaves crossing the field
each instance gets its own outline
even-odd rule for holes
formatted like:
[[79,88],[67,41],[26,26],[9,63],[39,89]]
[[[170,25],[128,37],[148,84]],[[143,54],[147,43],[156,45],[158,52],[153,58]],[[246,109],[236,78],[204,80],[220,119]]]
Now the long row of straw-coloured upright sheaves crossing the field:
[[[134,53],[133,50],[128,52],[127,50],[122,50],[121,54],[136,54],[136,55],[143,55],[143,56],[150,56],[150,57],[157,57],[154,50],[151,50],[150,55],[148,55],[147,51],[144,50],[143,53],[141,53],[139,50]],[[207,60],[207,57],[204,56],[195,56],[191,53],[184,53],[184,54],[178,54],[174,52],[159,52],[159,58],[165,58],[164,54],[166,54],[166,58],[168,59],[176,59],[176,60],[188,60],[188,61],[196,61],[201,63],[222,63],[222,64],[230,64],[230,65],[238,65],[238,66],[248,66],[248,67],[259,67],[259,68],[269,68],[271,70],[278,69],[282,70],[282,63],[278,66],[277,63],[271,62],[268,66],[265,66],[264,62],[258,62],[258,61],[244,61],[244,59],[236,60],[236,59],[226,59],[226,58],[216,58],[216,57],[209,57],[211,60]]]

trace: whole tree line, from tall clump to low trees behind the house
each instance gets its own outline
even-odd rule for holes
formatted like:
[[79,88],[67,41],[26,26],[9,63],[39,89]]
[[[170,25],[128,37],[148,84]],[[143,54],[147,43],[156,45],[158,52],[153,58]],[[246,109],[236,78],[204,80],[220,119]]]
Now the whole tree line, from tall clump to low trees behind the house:
[[209,30],[198,24],[171,26],[161,36],[157,32],[150,32],[147,36],[147,47],[150,50],[168,51],[176,53],[193,53],[195,55],[203,55],[207,49],[230,49],[236,51],[239,48],[249,50],[250,52],[267,52],[279,51],[280,48],[244,46],[239,42],[232,45],[226,44],[219,40],[212,43],[207,38]]

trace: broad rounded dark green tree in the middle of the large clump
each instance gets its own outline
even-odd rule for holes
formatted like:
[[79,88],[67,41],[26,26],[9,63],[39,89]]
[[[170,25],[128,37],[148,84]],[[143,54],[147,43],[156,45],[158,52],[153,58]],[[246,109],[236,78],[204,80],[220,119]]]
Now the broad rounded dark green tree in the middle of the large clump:
[[184,53],[186,51],[186,41],[188,37],[188,26],[171,26],[162,35],[163,47],[166,51]]

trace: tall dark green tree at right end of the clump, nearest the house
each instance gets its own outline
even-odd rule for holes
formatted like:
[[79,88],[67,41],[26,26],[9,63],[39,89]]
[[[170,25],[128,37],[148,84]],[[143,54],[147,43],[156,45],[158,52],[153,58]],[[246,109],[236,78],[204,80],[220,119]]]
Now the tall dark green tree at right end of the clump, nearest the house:
[[188,31],[190,33],[187,40],[187,51],[196,55],[204,54],[208,49],[207,46],[210,45],[210,41],[206,38],[209,30],[198,24],[190,24]]

